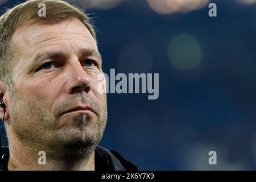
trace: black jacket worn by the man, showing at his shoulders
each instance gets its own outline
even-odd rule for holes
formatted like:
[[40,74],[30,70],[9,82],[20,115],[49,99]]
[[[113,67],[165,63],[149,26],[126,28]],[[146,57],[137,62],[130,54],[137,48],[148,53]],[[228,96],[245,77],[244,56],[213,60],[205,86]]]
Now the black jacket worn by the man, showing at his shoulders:
[[[6,171],[9,153],[2,155],[0,171]],[[137,166],[123,159],[118,152],[97,146],[95,149],[95,171],[138,171]]]

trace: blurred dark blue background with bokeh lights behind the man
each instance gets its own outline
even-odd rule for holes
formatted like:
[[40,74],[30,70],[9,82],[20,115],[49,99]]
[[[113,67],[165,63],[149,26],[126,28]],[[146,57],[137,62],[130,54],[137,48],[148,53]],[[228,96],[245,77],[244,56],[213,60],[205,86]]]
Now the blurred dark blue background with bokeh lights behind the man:
[[158,100],[108,94],[101,146],[142,170],[256,169],[256,0],[69,2],[93,19],[105,73],[159,73]]

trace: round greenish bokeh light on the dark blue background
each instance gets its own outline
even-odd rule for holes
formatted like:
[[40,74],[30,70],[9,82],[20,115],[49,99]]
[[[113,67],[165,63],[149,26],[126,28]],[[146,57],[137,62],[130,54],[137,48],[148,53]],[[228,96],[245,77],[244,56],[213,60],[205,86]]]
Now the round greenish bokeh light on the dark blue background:
[[173,67],[189,70],[200,65],[202,52],[199,42],[193,36],[181,34],[168,44],[167,56]]

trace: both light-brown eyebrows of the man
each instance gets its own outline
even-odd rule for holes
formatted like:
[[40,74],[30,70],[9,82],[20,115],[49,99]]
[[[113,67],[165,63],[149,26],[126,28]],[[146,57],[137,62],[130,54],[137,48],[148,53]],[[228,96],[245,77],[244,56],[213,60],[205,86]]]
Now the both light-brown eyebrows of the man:
[[[88,56],[96,57],[96,59],[99,61],[99,64],[101,66],[102,58],[101,58],[100,52],[96,51],[95,49],[87,49],[87,48],[79,49],[79,52],[78,52],[79,58],[88,57]],[[60,57],[64,59],[68,59],[69,56],[64,51],[47,51],[47,52],[38,53],[38,55],[36,55],[35,58],[33,59],[32,65],[39,64],[43,60],[57,59]]]

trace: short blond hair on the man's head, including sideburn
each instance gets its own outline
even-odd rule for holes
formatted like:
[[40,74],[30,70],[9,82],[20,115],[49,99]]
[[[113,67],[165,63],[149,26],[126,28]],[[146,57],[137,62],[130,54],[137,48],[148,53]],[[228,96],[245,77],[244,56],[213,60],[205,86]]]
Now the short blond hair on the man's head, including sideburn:
[[[38,15],[39,3],[46,5],[46,16]],[[31,21],[32,23],[57,23],[71,18],[79,19],[90,31],[96,43],[96,33],[88,15],[79,8],[61,0],[28,0],[13,7],[0,16],[0,80],[4,81],[9,89],[13,86],[13,67],[15,48],[11,40],[16,28]]]

